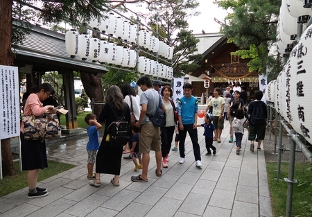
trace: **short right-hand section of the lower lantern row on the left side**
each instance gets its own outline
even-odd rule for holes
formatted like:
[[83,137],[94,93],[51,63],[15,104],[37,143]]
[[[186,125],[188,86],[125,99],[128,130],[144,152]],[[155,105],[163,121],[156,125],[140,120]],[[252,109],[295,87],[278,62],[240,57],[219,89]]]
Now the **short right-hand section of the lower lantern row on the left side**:
[[139,57],[138,63],[139,73],[144,73],[147,76],[164,78],[171,80],[173,78],[173,68],[155,60],[150,60],[144,56]]

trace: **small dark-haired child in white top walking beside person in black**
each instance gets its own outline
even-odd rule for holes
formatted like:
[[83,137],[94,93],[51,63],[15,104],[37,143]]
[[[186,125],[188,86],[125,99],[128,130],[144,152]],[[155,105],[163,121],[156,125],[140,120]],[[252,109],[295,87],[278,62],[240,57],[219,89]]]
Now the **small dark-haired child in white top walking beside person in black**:
[[236,138],[236,155],[239,155],[239,152],[241,151],[241,140],[243,139],[244,125],[249,132],[248,122],[247,119],[245,119],[244,111],[239,108],[238,110],[236,110],[236,115],[232,123],[233,131]]

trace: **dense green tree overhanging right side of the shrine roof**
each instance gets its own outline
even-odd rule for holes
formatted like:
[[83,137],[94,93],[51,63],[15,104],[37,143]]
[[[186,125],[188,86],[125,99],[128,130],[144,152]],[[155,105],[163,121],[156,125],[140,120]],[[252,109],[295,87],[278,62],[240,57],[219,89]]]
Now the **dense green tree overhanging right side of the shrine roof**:
[[[250,58],[250,71],[275,77],[281,71],[280,58],[268,56],[268,47],[275,42],[280,0],[214,0],[219,7],[232,11],[225,18],[221,33],[239,46],[232,54]],[[268,70],[270,69],[270,70]]]

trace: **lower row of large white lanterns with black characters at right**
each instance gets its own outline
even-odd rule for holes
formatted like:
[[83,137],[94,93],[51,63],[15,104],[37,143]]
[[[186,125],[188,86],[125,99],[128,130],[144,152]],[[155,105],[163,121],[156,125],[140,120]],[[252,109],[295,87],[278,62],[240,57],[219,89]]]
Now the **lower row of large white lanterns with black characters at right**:
[[312,143],[312,25],[306,28],[276,80],[266,87],[266,99],[293,129]]

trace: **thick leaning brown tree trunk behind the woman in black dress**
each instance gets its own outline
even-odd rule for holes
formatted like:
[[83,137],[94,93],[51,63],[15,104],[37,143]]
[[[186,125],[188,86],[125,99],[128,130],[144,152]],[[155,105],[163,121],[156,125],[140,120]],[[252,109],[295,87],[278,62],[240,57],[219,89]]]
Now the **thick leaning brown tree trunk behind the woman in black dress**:
[[85,88],[85,93],[89,96],[91,102],[94,101],[94,114],[98,117],[103,109],[104,95],[102,87],[102,74],[98,73],[96,76],[92,73],[85,73],[80,71],[81,82],[83,83],[83,88]]

